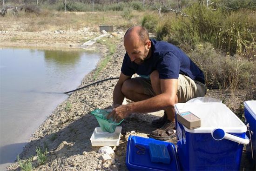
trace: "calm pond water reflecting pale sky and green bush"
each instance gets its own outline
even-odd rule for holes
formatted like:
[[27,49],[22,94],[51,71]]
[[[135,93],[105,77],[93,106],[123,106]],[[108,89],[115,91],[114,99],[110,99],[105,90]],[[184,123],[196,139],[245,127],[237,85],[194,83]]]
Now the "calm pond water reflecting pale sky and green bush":
[[92,71],[99,54],[0,48],[0,170]]

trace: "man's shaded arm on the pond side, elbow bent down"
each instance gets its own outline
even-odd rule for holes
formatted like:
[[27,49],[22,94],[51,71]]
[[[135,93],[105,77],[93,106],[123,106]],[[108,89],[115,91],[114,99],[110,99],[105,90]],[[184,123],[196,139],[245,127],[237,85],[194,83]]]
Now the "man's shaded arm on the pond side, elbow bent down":
[[122,85],[125,80],[130,79],[131,76],[124,75],[122,72],[120,74],[120,77],[118,79],[117,84],[115,85],[115,89],[113,92],[113,106],[117,107],[120,106],[123,102],[124,95],[121,92]]

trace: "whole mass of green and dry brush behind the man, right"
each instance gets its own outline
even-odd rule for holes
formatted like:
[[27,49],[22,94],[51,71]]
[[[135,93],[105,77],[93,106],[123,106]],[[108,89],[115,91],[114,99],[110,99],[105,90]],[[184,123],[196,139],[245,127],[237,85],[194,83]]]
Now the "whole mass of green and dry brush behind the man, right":
[[256,3],[232,2],[216,0],[209,7],[195,2],[177,13],[145,15],[142,25],[188,53],[208,88],[251,91],[256,87]]

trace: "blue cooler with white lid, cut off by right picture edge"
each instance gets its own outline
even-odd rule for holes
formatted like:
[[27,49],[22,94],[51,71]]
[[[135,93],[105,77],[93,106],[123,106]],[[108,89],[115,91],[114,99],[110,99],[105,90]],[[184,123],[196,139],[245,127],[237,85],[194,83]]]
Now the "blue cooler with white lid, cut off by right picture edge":
[[256,167],[256,101],[250,100],[244,103],[244,116],[246,118],[246,124],[249,124],[249,131],[246,135],[250,138],[250,144],[247,146],[249,159],[252,166]]

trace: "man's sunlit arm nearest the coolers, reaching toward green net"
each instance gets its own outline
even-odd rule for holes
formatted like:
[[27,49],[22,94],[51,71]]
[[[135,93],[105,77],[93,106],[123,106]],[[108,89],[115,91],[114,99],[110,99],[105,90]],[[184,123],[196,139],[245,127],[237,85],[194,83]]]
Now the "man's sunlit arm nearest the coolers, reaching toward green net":
[[116,107],[109,117],[117,121],[128,117],[132,112],[156,112],[174,107],[177,102],[178,79],[160,79],[162,93],[150,99]]

